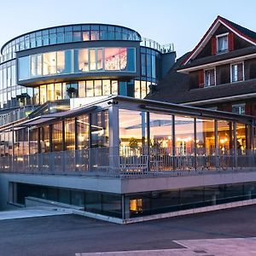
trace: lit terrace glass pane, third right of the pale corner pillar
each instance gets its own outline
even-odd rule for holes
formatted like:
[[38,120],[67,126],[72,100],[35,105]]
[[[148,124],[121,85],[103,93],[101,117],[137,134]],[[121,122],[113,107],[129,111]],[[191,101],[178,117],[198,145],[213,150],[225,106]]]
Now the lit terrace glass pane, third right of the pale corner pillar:
[[177,155],[194,154],[194,119],[175,116],[175,147]]

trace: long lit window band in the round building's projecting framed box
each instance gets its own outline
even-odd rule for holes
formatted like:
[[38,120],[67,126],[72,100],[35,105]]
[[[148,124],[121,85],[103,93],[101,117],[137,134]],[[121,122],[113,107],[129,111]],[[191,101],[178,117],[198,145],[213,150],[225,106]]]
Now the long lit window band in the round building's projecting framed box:
[[66,49],[18,59],[18,80],[89,72],[136,72],[135,48]]

